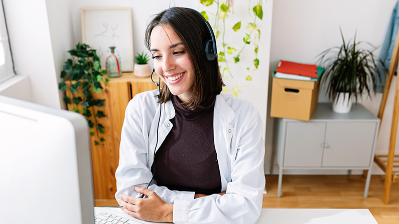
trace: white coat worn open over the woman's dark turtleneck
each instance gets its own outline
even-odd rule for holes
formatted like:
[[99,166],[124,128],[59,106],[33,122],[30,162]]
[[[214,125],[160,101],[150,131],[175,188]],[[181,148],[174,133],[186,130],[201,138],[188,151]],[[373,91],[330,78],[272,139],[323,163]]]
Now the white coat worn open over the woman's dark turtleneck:
[[[146,186],[152,173],[161,106],[158,90],[137,94],[126,107],[122,127],[115,197],[137,196],[134,186]],[[157,150],[172,129],[171,101],[162,104]],[[264,142],[259,112],[250,102],[226,94],[216,96],[213,133],[223,196],[194,199],[194,192],[150,185],[165,202],[173,203],[174,223],[255,223],[265,185]],[[156,181],[154,182],[156,183]]]

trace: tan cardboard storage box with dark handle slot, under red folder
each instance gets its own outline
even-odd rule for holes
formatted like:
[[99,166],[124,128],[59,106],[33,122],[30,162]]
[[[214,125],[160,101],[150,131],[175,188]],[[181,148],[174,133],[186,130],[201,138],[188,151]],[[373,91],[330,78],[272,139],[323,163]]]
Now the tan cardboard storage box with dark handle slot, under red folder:
[[294,80],[273,76],[273,117],[310,120],[317,108],[319,78],[316,80]]

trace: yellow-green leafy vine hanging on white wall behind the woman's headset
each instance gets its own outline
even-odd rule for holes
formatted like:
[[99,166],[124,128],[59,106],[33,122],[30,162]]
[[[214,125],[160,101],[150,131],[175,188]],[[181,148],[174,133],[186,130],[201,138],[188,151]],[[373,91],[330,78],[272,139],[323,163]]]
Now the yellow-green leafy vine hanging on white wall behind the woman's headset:
[[[205,6],[210,6],[213,3],[217,4],[216,12],[208,12],[209,15],[214,16],[214,19],[210,19],[208,13],[206,11],[201,11],[201,14],[213,24],[212,27],[214,29],[216,39],[221,39],[218,42],[221,42],[221,47],[219,44],[218,51],[218,60],[219,60],[219,68],[220,73],[223,78],[227,78],[230,76],[233,77],[231,67],[239,63],[240,56],[243,53],[245,48],[251,47],[251,51],[253,52],[253,64],[246,68],[247,75],[245,76],[245,85],[239,86],[238,84],[231,88],[232,93],[237,96],[238,92],[242,91],[246,88],[250,81],[252,81],[252,77],[259,66],[259,59],[257,58],[258,53],[258,41],[260,39],[260,30],[256,26],[256,18],[262,19],[263,10],[262,10],[262,0],[256,0],[256,4],[251,4],[251,0],[248,1],[248,14],[250,17],[250,21],[246,23],[245,26],[245,34],[242,38],[242,46],[232,46],[229,43],[229,39],[227,38],[228,32],[236,32],[240,30],[242,21],[235,22],[231,28],[226,27],[226,18],[232,13],[232,5],[233,0],[225,0],[222,2],[221,0],[200,0],[200,2]],[[219,28],[219,25],[222,25],[222,28]],[[234,36],[234,35],[229,35]],[[232,62],[229,62],[232,61]],[[224,88],[223,91],[228,91],[227,88]]]

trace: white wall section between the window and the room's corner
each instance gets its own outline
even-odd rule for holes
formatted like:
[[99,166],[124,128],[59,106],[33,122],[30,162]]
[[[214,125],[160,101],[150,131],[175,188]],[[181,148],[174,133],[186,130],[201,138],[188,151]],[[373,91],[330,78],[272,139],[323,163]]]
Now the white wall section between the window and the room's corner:
[[3,0],[17,75],[29,77],[29,88],[9,95],[60,107],[45,0]]

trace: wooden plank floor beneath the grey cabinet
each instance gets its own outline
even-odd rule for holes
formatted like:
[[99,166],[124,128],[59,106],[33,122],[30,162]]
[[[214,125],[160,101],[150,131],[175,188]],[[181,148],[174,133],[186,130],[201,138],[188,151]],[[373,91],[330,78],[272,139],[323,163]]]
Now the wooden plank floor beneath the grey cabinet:
[[[361,175],[283,175],[282,197],[277,197],[278,175],[266,175],[268,194],[263,208],[368,208],[378,224],[399,223],[399,182],[392,184],[390,203],[382,202],[384,176],[372,175],[363,198]],[[114,199],[96,199],[96,206],[117,206]]]

